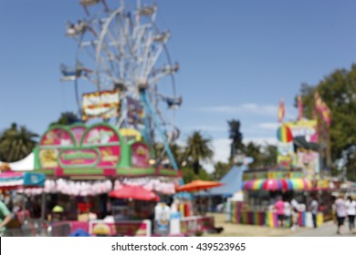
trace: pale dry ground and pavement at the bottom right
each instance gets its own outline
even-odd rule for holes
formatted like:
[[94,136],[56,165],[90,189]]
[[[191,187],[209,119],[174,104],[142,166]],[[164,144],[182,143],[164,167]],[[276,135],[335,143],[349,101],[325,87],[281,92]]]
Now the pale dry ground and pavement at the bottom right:
[[224,231],[220,234],[204,233],[204,237],[338,237],[354,236],[349,232],[347,225],[343,226],[341,235],[336,234],[336,225],[326,222],[317,229],[299,228],[298,230],[275,229],[264,226],[253,226],[225,222],[225,215],[222,213],[212,213],[215,217],[215,227],[223,227]]

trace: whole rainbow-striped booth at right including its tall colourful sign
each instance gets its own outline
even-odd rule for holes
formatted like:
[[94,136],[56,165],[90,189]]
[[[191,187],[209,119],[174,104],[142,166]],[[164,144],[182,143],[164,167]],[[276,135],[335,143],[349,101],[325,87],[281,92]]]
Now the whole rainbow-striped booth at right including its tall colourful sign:
[[277,167],[244,172],[244,199],[232,203],[233,222],[277,227],[274,204],[278,197],[297,199],[299,226],[312,226],[312,198],[319,200],[317,223],[331,219],[331,193],[340,189],[340,181],[320,170],[324,165],[317,126],[316,120],[307,119],[281,124],[277,129]]

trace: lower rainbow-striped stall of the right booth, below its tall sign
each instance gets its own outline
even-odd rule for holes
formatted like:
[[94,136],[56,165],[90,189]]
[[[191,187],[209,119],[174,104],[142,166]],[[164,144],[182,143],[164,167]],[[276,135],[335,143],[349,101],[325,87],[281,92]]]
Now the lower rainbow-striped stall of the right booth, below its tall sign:
[[330,193],[338,189],[337,181],[327,179],[306,179],[300,168],[289,170],[280,168],[249,169],[244,173],[244,201],[232,202],[231,220],[235,223],[277,227],[277,212],[273,205],[278,196],[298,200],[298,226],[310,227],[311,214],[308,211],[312,195],[319,197],[317,224],[324,216],[329,219],[331,207]]

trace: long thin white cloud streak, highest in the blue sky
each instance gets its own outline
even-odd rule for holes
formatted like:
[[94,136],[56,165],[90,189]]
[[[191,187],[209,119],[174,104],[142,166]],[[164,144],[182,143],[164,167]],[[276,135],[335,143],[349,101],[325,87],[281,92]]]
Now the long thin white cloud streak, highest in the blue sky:
[[201,107],[200,111],[210,112],[210,113],[248,113],[260,116],[276,116],[277,117],[277,106],[275,105],[257,105],[255,103],[242,104],[240,106],[220,106],[220,107]]

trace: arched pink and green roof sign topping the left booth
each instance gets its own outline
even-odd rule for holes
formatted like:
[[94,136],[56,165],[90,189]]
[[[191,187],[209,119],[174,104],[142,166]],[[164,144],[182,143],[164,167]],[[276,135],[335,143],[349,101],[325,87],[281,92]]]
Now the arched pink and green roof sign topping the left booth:
[[143,140],[128,138],[108,123],[53,126],[35,149],[35,172],[71,178],[178,177],[173,168],[150,165],[152,152]]

